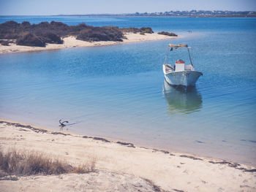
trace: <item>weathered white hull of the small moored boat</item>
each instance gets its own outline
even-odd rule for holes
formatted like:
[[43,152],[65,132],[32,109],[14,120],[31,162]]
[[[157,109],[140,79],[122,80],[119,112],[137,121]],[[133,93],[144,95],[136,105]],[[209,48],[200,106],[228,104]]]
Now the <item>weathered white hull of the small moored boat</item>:
[[170,72],[165,74],[165,80],[170,85],[195,86],[201,75],[201,72],[195,71]]

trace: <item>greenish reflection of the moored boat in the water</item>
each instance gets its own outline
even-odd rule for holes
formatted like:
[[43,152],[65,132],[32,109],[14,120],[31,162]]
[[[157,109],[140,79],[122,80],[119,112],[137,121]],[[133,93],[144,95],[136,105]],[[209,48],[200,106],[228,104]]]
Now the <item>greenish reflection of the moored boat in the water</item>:
[[202,107],[202,96],[196,87],[174,87],[165,81],[163,93],[167,100],[168,112],[170,114],[189,114],[199,111]]

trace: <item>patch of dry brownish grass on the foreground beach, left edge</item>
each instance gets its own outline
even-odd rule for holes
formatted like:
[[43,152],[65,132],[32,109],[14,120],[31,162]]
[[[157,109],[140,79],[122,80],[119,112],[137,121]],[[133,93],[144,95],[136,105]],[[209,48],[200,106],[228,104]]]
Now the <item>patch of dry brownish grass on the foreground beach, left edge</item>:
[[71,166],[64,161],[53,160],[42,153],[18,153],[17,150],[9,150],[4,153],[0,148],[0,177],[8,174],[64,174],[64,173],[88,173],[95,171],[96,159],[93,158],[86,164]]

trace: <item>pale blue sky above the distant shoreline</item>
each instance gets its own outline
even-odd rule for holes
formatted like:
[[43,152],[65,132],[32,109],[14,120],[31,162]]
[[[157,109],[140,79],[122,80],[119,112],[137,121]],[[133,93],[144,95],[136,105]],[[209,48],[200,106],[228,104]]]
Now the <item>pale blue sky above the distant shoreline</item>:
[[0,15],[165,12],[192,9],[255,11],[256,0],[0,0]]

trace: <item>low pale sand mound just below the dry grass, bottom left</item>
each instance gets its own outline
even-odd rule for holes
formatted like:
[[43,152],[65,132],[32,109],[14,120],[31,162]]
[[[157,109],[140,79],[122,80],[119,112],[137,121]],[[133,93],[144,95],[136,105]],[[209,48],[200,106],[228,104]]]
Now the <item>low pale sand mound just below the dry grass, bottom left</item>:
[[[18,181],[0,181],[1,192],[10,191],[156,191],[157,186],[140,177],[106,171],[89,174],[61,174],[20,177]],[[159,189],[159,188],[158,188]],[[159,189],[160,190],[160,189]]]

